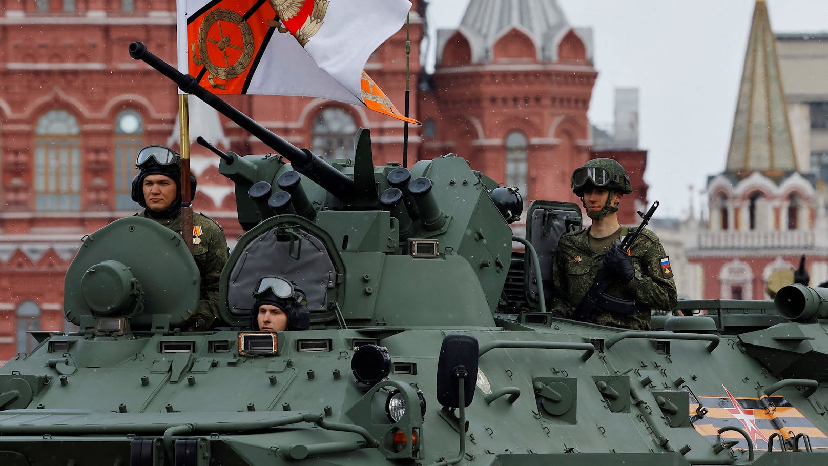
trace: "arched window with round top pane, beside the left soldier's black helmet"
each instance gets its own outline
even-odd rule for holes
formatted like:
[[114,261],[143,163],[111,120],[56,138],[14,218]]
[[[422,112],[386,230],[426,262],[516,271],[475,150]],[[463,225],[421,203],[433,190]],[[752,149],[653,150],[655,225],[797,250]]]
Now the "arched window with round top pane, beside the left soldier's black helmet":
[[135,110],[123,110],[115,118],[115,208],[118,211],[137,208],[130,197],[135,158],[144,146],[144,124]]

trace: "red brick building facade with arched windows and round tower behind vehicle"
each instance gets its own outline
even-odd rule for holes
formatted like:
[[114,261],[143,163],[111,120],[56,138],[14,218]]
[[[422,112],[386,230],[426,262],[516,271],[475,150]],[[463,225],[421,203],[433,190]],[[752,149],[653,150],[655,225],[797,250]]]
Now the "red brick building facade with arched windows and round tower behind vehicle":
[[[477,19],[512,1],[517,7],[502,11],[520,14],[488,25]],[[143,41],[174,62],[175,7],[172,0],[0,0],[0,361],[31,350],[27,330],[70,328],[63,275],[80,239],[137,211],[129,189],[138,148],[177,146],[175,85],[127,52]],[[418,46],[425,8],[415,0],[411,15],[412,117],[424,125],[411,128],[409,164],[458,153],[521,187],[527,201],[576,201],[569,177],[590,158],[586,113],[597,76],[590,31],[570,27],[551,0],[475,0],[457,31],[440,32],[436,71],[426,75]],[[545,21],[527,24],[527,14]],[[405,41],[403,28],[366,66],[400,109]],[[354,131],[364,127],[375,163],[402,159],[402,124],[366,109],[298,97],[228,101],[326,158],[349,157]],[[240,154],[270,152],[211,112],[190,104],[193,138]],[[192,150],[195,209],[217,219],[233,245],[242,231],[232,186],[213,154]],[[631,173],[633,185],[643,186],[641,168]]]

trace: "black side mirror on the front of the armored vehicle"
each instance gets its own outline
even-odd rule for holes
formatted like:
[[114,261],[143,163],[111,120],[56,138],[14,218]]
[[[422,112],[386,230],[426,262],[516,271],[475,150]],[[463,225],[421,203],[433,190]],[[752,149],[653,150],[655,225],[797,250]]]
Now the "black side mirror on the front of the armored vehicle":
[[460,408],[460,384],[464,379],[463,407],[471,404],[477,382],[478,345],[469,335],[446,335],[440,347],[437,362],[437,402],[450,408]]

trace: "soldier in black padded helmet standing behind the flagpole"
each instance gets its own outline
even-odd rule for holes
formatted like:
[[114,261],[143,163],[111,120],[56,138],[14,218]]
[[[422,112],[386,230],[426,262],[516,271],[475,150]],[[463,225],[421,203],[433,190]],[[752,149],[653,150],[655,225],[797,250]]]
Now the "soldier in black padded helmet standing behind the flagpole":
[[[181,156],[171,148],[152,145],[138,152],[138,174],[132,179],[132,201],[143,211],[135,214],[152,219],[181,233]],[[195,177],[190,175],[195,194]],[[229,250],[224,229],[213,219],[193,214],[193,259],[201,274],[199,306],[185,323],[185,330],[208,330],[220,323],[219,278]]]

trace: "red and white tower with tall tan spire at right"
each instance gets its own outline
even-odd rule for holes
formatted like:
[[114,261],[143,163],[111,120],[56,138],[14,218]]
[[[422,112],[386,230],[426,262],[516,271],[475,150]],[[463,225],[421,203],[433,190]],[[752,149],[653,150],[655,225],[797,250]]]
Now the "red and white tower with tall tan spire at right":
[[797,160],[763,0],[756,2],[724,172],[707,183],[710,221],[687,235],[703,299],[768,299],[768,277],[806,254],[812,282],[825,279],[825,206]]

